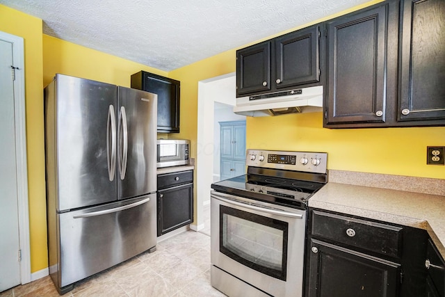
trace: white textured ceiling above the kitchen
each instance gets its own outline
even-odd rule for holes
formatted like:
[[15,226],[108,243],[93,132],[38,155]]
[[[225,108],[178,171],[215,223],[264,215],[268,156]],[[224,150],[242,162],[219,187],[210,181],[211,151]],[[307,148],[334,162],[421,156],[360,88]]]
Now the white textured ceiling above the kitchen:
[[43,33],[159,70],[338,13],[368,0],[0,0]]

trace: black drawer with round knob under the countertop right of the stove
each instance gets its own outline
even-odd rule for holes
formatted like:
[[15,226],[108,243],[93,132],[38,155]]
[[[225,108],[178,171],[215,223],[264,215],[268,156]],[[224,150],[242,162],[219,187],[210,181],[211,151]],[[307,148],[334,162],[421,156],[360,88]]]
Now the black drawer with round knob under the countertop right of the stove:
[[401,257],[401,227],[313,211],[312,236],[320,236],[380,255]]

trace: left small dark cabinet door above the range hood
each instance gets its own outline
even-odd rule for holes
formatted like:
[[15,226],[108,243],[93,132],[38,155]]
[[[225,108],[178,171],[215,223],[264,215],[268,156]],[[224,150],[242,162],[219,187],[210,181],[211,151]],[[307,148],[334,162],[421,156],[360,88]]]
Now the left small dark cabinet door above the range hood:
[[236,96],[270,90],[270,41],[236,51]]

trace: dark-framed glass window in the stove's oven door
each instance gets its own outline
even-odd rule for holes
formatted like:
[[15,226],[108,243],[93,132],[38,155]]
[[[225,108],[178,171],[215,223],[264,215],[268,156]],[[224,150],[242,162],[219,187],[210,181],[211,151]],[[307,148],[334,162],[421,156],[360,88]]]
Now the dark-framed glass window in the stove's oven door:
[[245,266],[286,280],[289,224],[220,205],[220,252]]

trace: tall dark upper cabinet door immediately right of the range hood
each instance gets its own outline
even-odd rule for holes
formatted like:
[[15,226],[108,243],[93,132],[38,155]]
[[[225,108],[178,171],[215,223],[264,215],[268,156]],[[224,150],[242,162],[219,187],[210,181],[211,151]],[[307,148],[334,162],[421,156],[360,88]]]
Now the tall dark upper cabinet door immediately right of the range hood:
[[388,4],[327,23],[327,124],[385,122]]

